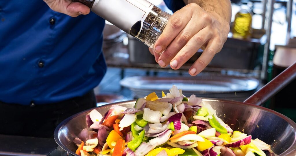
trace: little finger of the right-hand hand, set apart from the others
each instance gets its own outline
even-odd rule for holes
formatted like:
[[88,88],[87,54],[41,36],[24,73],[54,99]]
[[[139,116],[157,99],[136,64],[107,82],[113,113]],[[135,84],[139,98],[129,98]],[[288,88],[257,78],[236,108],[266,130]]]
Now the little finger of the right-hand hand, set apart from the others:
[[222,48],[221,39],[210,40],[208,46],[205,48],[200,58],[198,58],[189,69],[189,74],[195,76],[199,74],[213,59],[214,55],[219,52]]

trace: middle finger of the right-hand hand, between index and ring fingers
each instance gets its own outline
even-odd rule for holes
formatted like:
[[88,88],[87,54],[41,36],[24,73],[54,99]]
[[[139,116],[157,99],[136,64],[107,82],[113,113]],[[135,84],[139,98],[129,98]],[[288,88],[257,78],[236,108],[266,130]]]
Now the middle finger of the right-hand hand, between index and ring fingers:
[[178,34],[178,36],[176,36],[173,42],[170,43],[170,45],[165,49],[165,51],[159,58],[158,62],[160,66],[167,66],[170,63],[170,61],[176,56],[176,54],[187,44],[187,42],[191,40],[192,36],[194,36],[204,27],[202,23],[196,23],[197,22],[194,19],[190,20],[189,23],[185,26],[185,28]]

